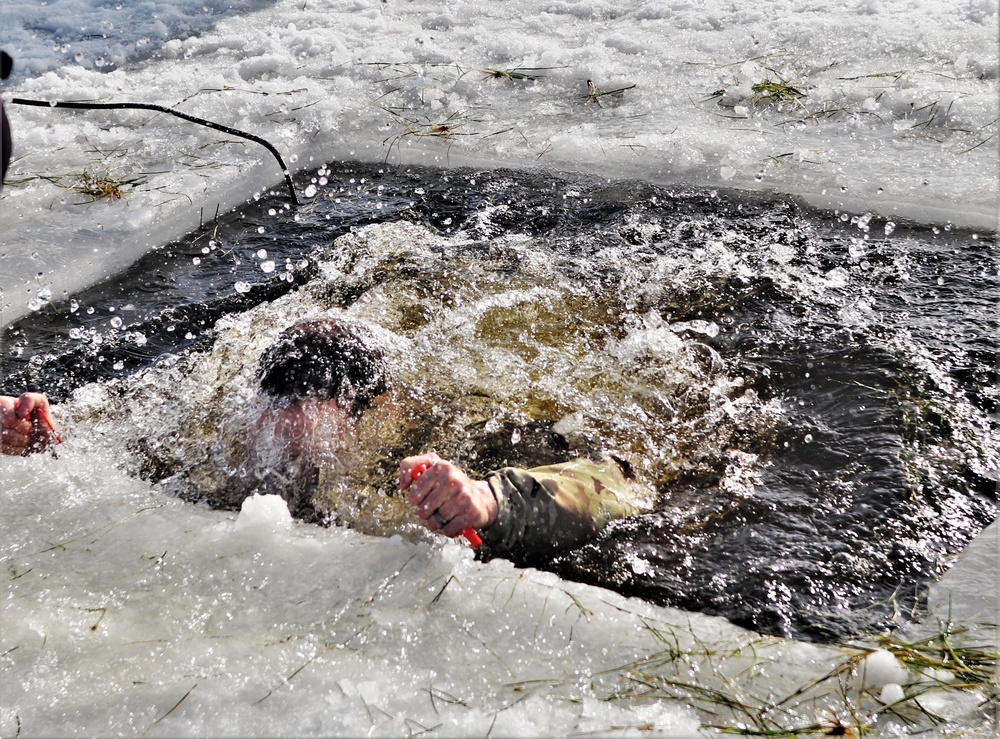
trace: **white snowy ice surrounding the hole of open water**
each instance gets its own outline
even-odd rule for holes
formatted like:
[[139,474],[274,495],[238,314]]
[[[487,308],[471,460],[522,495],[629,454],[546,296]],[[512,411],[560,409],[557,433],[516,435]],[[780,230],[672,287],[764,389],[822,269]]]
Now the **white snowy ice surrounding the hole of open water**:
[[[12,98],[175,106],[267,139],[293,173],[545,167],[994,230],[997,23],[997,0],[5,0],[0,325],[282,189],[250,142]],[[516,69],[538,78],[482,71]],[[634,87],[588,99],[588,79]],[[767,81],[802,96],[768,101],[754,92]],[[91,203],[67,189],[84,171],[133,184]],[[684,701],[608,700],[635,688],[624,666],[655,672],[658,635],[715,650],[682,672],[720,689],[764,676],[761,694],[842,657],[483,565],[454,542],[302,526],[267,500],[210,511],[67,447],[0,459],[5,736],[691,736]],[[995,609],[996,543],[994,524],[935,613]],[[888,666],[883,700],[905,679]],[[961,722],[977,696],[926,705]]]

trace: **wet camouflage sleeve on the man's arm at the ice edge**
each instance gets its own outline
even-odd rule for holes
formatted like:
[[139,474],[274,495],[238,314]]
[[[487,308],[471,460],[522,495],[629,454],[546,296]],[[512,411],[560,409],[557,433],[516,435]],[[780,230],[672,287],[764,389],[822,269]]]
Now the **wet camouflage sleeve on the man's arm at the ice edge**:
[[491,472],[486,482],[497,517],[483,542],[518,562],[549,557],[582,544],[608,521],[638,513],[634,483],[610,458],[579,459],[522,470]]

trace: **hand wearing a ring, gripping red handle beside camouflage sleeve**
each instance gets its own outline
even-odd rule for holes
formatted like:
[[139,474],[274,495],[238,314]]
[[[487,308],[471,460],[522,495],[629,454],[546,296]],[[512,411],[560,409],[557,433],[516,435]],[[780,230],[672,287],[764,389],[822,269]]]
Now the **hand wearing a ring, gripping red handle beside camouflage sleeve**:
[[437,454],[406,457],[399,463],[399,489],[431,531],[455,537],[467,529],[485,529],[497,517],[489,485],[473,480]]

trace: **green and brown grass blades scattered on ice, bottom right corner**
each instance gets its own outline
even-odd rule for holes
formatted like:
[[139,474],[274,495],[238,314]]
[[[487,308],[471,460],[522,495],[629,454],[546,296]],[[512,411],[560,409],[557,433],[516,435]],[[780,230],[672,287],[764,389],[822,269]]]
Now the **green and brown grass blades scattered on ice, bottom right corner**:
[[[921,698],[943,691],[973,693],[982,700],[982,718],[1000,700],[997,665],[1000,653],[961,643],[964,629],[939,625],[925,639],[905,641],[881,635],[871,642],[845,644],[821,677],[793,690],[775,690],[768,671],[774,669],[769,642],[737,644],[732,650],[695,640],[682,646],[677,635],[646,627],[666,649],[633,662],[595,673],[618,673],[609,701],[672,700],[691,706],[703,717],[702,727],[723,734],[761,737],[860,737],[891,720],[911,733],[941,730],[947,720],[930,711]],[[882,700],[881,685],[865,680],[866,658],[884,649],[909,671],[900,687],[903,697]]]

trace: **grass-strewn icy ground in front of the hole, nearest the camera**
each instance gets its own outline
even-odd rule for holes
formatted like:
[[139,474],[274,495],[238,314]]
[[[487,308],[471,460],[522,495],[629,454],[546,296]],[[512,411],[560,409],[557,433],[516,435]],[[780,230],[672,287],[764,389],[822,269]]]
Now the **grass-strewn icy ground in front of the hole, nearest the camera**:
[[[4,736],[692,737],[718,733],[706,723],[832,729],[872,711],[878,734],[898,736],[926,729],[924,710],[990,735],[982,690],[949,689],[874,644],[761,637],[484,565],[455,542],[296,525],[277,498],[210,511],[73,448],[3,460],[0,483]],[[948,609],[958,624],[995,616],[995,589],[976,588],[996,581],[997,532],[939,586],[930,633]],[[959,610],[974,602],[985,612]],[[903,695],[908,728],[884,708]]]

